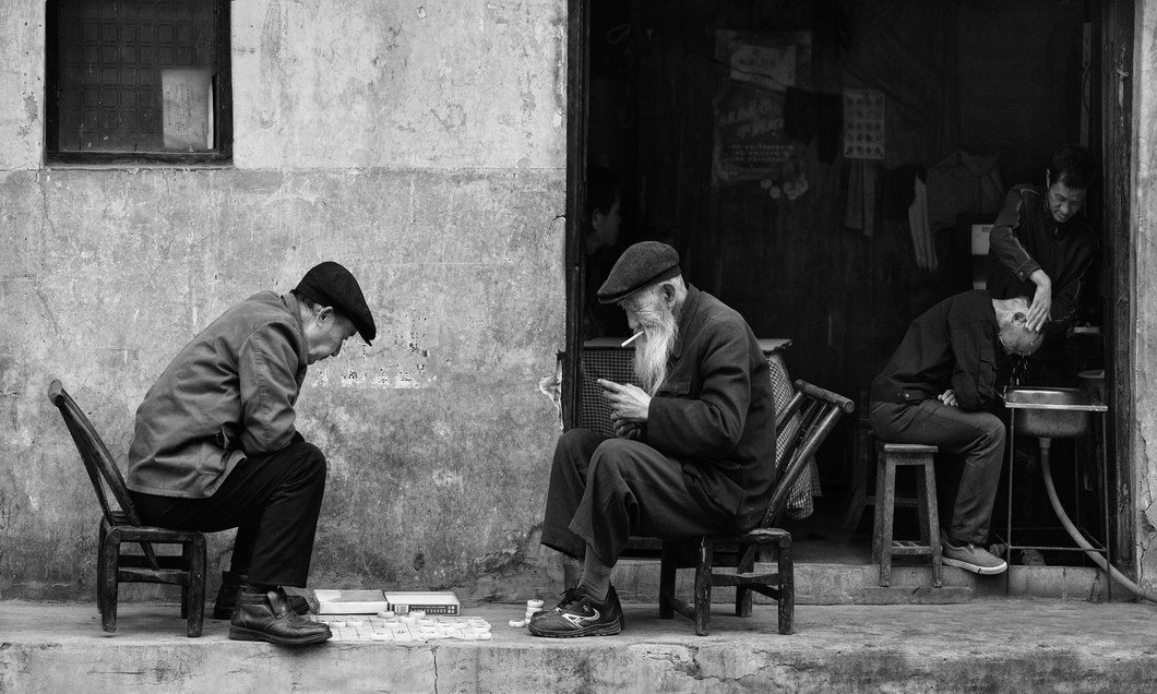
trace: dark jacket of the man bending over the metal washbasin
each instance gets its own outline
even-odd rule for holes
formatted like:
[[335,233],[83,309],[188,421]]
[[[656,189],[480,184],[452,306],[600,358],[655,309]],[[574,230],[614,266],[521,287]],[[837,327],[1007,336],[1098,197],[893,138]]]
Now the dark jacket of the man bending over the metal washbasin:
[[1000,324],[992,295],[977,289],[950,296],[912,322],[883,372],[871,383],[874,403],[919,405],[956,391],[960,409],[997,405]]

